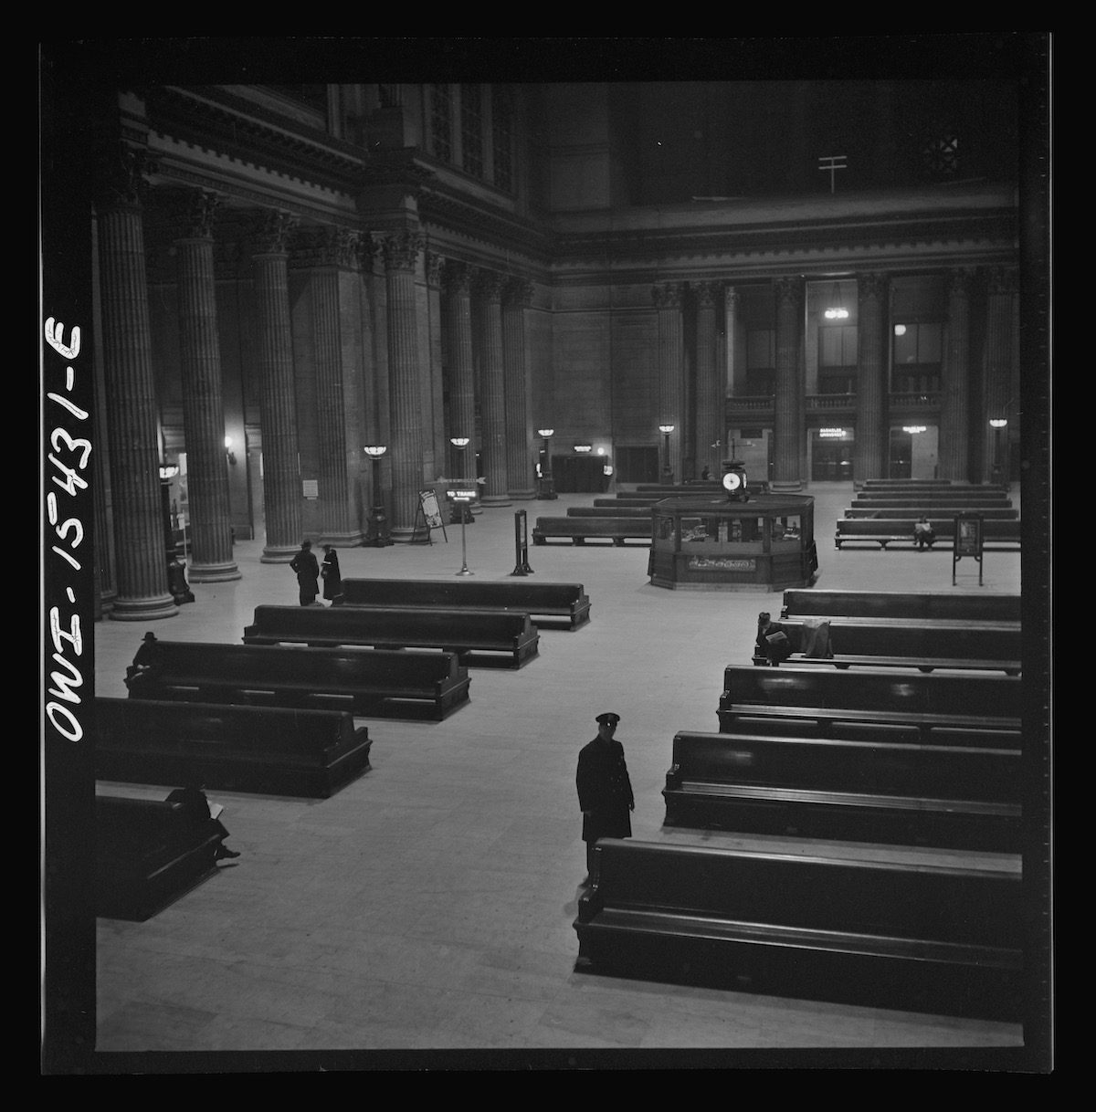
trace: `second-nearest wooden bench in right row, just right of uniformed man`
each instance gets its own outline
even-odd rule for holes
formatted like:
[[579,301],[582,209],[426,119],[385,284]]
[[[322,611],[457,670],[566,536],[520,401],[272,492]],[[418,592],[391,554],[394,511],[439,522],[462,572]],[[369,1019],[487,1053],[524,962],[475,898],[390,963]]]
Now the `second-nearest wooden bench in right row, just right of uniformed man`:
[[1019,748],[679,733],[665,825],[1019,853]]

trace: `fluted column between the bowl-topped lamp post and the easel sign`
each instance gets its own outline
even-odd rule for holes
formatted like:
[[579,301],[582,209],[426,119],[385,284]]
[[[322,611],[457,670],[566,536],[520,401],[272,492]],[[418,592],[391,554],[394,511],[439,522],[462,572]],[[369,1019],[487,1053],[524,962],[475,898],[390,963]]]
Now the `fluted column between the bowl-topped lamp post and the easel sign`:
[[[388,292],[388,384],[394,542],[418,539],[415,519],[423,481],[423,417],[419,390],[415,270],[424,238],[399,231],[381,240]],[[422,530],[419,529],[419,535]]]

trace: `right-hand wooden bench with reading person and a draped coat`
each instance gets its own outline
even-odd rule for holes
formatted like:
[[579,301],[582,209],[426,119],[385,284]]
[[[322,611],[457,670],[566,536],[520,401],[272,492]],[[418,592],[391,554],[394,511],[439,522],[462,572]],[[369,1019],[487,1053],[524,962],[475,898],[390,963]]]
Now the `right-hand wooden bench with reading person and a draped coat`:
[[[809,629],[829,626],[831,657],[804,656]],[[852,665],[889,668],[960,668],[1004,672],[1018,676],[1021,666],[1018,622],[964,622],[932,618],[821,618],[809,615],[781,617],[792,665],[822,665],[848,668]],[[754,665],[768,665],[753,649]]]

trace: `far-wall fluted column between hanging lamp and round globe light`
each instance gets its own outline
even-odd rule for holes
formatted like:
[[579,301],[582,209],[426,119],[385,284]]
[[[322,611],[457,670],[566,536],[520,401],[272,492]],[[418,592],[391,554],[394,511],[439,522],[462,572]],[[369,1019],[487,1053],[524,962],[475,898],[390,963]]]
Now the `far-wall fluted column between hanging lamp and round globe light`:
[[858,479],[886,478],[890,461],[887,429],[886,275],[857,276],[857,446]]

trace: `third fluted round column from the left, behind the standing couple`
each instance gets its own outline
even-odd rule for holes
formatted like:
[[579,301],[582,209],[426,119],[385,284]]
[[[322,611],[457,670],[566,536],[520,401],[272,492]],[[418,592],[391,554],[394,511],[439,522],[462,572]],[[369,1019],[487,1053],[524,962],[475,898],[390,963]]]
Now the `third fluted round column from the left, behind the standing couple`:
[[286,238],[295,222],[288,212],[263,214],[255,232],[253,255],[263,414],[264,564],[288,564],[302,540],[297,406],[289,330],[289,252],[286,248]]

